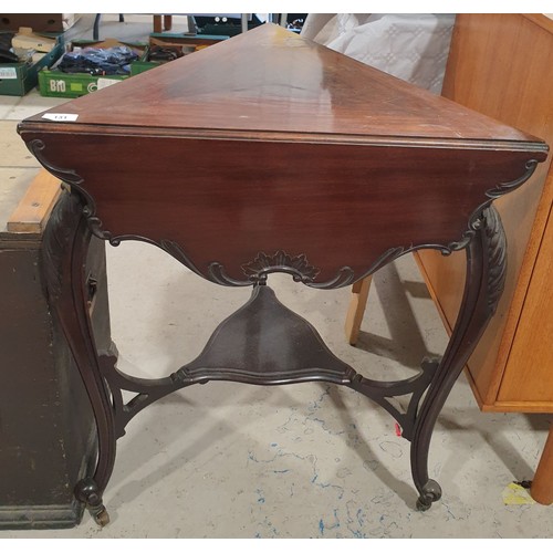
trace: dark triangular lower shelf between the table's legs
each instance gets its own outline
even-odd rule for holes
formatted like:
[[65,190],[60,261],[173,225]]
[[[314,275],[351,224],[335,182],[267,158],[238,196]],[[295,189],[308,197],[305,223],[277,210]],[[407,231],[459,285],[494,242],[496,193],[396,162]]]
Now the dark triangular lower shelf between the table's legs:
[[349,384],[355,371],[328,349],[307,321],[280,303],[269,286],[260,285],[177,374],[190,383]]

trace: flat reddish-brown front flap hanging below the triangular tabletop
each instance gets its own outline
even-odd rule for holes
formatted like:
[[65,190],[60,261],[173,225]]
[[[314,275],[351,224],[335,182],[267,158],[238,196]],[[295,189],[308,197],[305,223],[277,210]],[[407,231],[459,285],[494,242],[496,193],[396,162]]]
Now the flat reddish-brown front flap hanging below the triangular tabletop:
[[[180,244],[206,274],[232,278],[258,253],[306,254],[319,282],[361,278],[393,248],[461,240],[494,184],[525,152],[155,136],[24,133],[54,167],[84,179],[102,229]],[[252,161],[254,160],[254,163]],[[113,168],[113,169],[112,169]],[[347,244],[347,248],[345,248]]]

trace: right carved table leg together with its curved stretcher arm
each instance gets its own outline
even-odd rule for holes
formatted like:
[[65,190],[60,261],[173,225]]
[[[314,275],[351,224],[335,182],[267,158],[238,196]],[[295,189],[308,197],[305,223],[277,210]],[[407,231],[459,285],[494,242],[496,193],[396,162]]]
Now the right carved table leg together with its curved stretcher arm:
[[[493,207],[479,210],[470,227],[463,301],[442,358],[424,359],[421,373],[410,379],[377,384],[356,375],[351,385],[387,409],[399,422],[401,436],[411,442],[411,473],[420,493],[417,508],[421,511],[441,497],[439,484],[428,476],[436,420],[503,291],[507,249],[499,213]],[[405,413],[398,413],[387,398],[405,394],[411,394],[408,407]]]

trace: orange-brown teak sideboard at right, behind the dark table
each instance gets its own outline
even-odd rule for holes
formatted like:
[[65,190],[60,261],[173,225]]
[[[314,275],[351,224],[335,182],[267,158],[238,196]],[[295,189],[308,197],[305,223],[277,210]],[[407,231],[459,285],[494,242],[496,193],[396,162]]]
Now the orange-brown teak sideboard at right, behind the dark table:
[[[546,69],[549,67],[549,70]],[[553,20],[542,14],[459,14],[442,94],[553,144]],[[497,201],[507,237],[505,292],[467,375],[484,411],[553,413],[553,169],[551,153],[524,188]],[[449,331],[465,260],[420,251],[416,259]],[[534,499],[553,501],[552,432]],[[549,452],[547,452],[549,451]],[[549,474],[542,477],[541,474]]]

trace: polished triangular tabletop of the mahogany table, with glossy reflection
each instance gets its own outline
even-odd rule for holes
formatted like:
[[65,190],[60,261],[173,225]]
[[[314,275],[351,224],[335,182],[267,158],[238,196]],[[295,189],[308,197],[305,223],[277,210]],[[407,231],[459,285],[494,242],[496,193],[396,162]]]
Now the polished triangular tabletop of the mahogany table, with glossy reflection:
[[[528,142],[533,138],[279,25],[264,24],[115,86],[51,108],[65,125],[209,129],[413,140]],[[31,121],[46,122],[42,114]],[[513,147],[510,144],[509,147]]]

